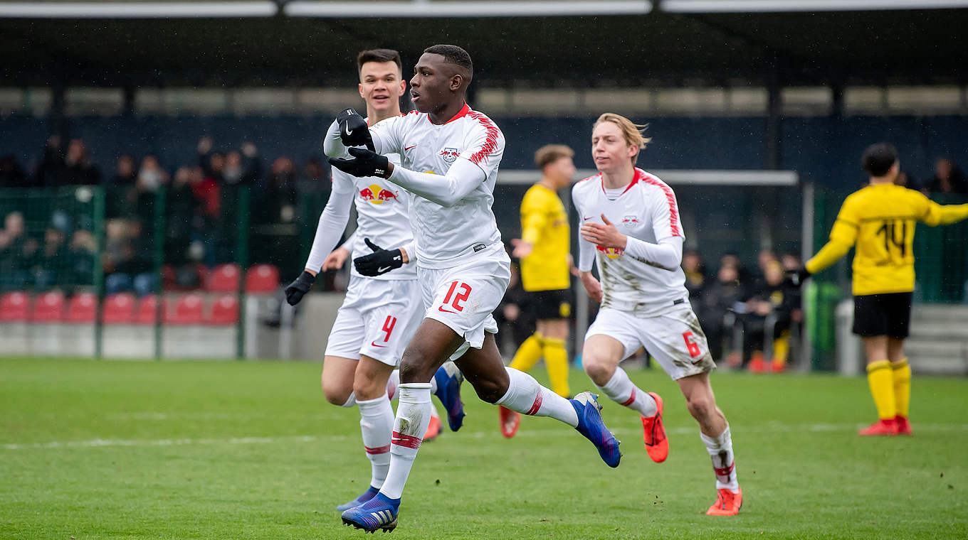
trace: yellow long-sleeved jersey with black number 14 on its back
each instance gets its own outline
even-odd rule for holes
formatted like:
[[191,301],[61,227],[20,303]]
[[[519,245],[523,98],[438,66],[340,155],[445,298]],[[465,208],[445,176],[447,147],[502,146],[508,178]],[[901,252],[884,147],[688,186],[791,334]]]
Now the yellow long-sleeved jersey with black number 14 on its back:
[[851,246],[854,253],[854,295],[914,291],[914,229],[968,217],[968,204],[942,206],[921,192],[900,185],[868,185],[852,193],[840,207],[831,241],[806,262],[816,273],[830,267]]

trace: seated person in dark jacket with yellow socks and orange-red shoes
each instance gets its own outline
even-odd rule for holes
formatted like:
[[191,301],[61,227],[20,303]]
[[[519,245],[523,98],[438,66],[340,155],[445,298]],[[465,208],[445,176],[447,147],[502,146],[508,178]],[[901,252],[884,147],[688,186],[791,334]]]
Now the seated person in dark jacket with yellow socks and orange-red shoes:
[[[764,373],[772,370],[781,372],[786,369],[787,355],[790,352],[790,325],[793,311],[800,307],[797,288],[786,280],[786,272],[778,261],[770,261],[764,270],[764,283],[752,298],[746,301],[746,315],[743,320],[745,353],[751,358],[749,370]],[[772,316],[772,317],[771,317]],[[774,319],[772,327],[767,323]],[[772,332],[772,365],[764,361],[766,332]]]

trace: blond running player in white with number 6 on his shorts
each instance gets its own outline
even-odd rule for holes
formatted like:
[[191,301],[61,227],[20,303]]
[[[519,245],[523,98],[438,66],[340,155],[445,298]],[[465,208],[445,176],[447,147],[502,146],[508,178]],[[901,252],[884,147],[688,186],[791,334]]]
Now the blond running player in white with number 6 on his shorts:
[[[601,309],[585,336],[582,364],[592,383],[642,417],[646,450],[655,462],[669,454],[662,398],[629,380],[619,362],[645,347],[679,383],[712,457],[716,502],[709,515],[735,515],[742,491],[726,417],[710,385],[715,367],[692,312],[681,270],[682,227],[672,188],[635,167],[649,139],[618,114],[598,117],[591,155],[599,174],[572,188],[578,210],[582,283]],[[597,263],[601,282],[591,275]]]

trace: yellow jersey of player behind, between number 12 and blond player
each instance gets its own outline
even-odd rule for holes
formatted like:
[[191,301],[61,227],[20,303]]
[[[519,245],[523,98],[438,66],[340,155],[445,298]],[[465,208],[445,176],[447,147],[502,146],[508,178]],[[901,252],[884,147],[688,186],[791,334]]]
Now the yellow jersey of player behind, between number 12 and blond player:
[[568,215],[558,193],[544,185],[531,185],[521,201],[521,240],[534,246],[521,259],[525,291],[554,291],[571,287]]

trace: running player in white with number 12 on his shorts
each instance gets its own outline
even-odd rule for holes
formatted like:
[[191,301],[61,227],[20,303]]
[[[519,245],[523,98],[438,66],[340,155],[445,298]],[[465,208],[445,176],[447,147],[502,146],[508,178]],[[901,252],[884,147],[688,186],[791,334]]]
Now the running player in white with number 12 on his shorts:
[[[456,358],[482,400],[557,418],[589,438],[609,466],[620,461],[619,442],[605,428],[592,394],[567,400],[527,373],[505,368],[500,357],[491,312],[510,280],[510,260],[491,205],[504,137],[464,99],[472,70],[463,48],[428,47],[410,79],[417,111],[367,128],[347,110],[326,138],[334,167],[386,178],[410,192],[417,278],[428,308],[400,364],[400,405],[386,481],[377,497],[343,513],[345,524],[367,531],[397,526],[400,497],[429,421],[429,381],[449,357]],[[375,151],[348,148],[369,145]],[[384,153],[401,154],[401,164],[389,162]],[[400,266],[401,255],[398,249],[383,249],[354,263],[359,270],[379,272]]]

